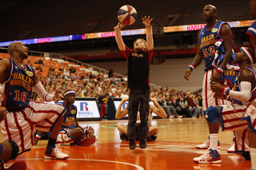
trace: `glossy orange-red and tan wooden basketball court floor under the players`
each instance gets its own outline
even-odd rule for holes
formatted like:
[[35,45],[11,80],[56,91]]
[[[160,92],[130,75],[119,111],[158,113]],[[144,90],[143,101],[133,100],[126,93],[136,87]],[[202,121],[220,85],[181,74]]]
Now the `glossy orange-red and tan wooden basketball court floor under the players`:
[[128,141],[119,139],[120,121],[81,121],[80,125],[90,125],[95,129],[99,140],[91,146],[61,146],[62,152],[69,154],[68,160],[45,160],[46,140],[39,140],[30,152],[18,156],[26,161],[27,169],[250,169],[250,160],[227,153],[233,140],[233,132],[220,132],[219,140],[222,164],[194,164],[193,158],[201,156],[206,150],[198,150],[195,145],[202,144],[208,137],[206,120],[203,118],[154,119],[152,124],[159,127],[158,138],[148,142],[147,148],[130,150]]

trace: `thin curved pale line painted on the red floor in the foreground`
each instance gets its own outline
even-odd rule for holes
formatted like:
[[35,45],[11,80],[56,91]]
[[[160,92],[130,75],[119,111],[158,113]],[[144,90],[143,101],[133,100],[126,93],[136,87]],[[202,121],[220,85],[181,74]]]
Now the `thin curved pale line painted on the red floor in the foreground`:
[[[55,159],[44,159],[44,158],[26,158],[26,159],[16,159],[16,160],[55,160]],[[67,160],[90,160],[90,159],[67,159]],[[110,163],[115,163],[115,164],[127,164],[130,166],[133,166],[135,168],[138,168],[138,170],[144,170],[141,166],[137,164],[130,164],[126,162],[119,162],[119,161],[113,161],[113,160],[90,160],[90,161],[99,161],[99,162],[110,162]]]

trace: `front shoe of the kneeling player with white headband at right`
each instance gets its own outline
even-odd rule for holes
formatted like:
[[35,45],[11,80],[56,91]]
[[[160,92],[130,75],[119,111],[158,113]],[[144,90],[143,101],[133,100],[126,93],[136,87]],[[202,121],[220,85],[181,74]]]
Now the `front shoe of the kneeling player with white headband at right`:
[[203,154],[202,156],[195,157],[194,159],[195,163],[198,164],[218,164],[222,163],[221,156],[218,154],[217,150],[209,149],[208,152]]

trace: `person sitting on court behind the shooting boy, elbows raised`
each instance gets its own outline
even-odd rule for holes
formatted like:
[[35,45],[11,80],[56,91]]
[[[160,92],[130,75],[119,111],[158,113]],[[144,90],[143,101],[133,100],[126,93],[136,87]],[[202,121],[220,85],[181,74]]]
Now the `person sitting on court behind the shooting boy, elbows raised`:
[[[121,119],[122,117],[125,117],[128,114],[128,106],[126,107],[126,109],[122,109],[122,105],[128,101],[128,98],[124,97],[122,98],[122,101],[120,103],[120,105],[118,106],[117,112],[115,113],[115,118],[116,119]],[[158,125],[151,125],[151,121],[152,121],[152,113],[155,113],[156,115],[158,115],[158,117],[162,117],[162,118],[166,118],[166,112],[164,109],[162,109],[162,107],[158,104],[157,99],[155,98],[151,98],[151,101],[154,102],[154,105],[150,105],[150,114],[149,114],[149,133],[148,136],[146,137],[147,141],[151,141],[151,140],[156,140],[157,136],[158,136]],[[138,109],[139,109],[140,105],[138,105]],[[139,110],[138,110],[138,117],[139,117]],[[136,140],[138,139],[138,125],[139,123],[136,123]],[[120,139],[121,140],[129,140],[128,136],[127,136],[127,126],[123,125],[123,124],[118,124],[118,130],[120,132]]]

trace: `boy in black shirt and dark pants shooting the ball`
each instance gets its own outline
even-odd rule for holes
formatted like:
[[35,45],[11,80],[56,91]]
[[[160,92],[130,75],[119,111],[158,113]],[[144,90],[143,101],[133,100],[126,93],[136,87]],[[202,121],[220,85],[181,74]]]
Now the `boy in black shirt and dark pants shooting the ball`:
[[130,89],[128,105],[128,128],[127,136],[129,137],[129,148],[136,148],[136,130],[138,105],[140,103],[140,119],[138,125],[139,147],[146,148],[146,136],[149,132],[148,116],[150,111],[150,60],[152,58],[154,42],[150,16],[142,18],[142,23],[146,27],[146,41],[138,38],[134,42],[134,49],[128,48],[123,40],[120,30],[125,27],[118,22],[114,27],[115,40],[118,48],[121,50],[127,60],[128,70],[128,88]]

